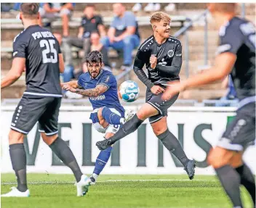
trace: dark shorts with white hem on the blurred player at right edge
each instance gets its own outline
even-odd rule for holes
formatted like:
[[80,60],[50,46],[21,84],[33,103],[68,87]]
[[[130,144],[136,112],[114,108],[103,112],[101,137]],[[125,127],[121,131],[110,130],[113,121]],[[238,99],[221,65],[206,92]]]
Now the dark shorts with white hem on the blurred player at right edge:
[[228,125],[217,146],[233,151],[243,151],[255,142],[255,103],[238,109],[236,117]]

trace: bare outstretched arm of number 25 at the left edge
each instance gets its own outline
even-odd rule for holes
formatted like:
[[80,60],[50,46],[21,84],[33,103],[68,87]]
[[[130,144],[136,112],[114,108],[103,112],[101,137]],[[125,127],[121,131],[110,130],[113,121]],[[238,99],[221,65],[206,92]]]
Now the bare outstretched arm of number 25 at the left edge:
[[23,74],[24,67],[25,58],[17,57],[13,59],[11,70],[9,70],[7,75],[1,79],[1,89],[12,85],[12,83],[15,83],[15,81],[18,80]]

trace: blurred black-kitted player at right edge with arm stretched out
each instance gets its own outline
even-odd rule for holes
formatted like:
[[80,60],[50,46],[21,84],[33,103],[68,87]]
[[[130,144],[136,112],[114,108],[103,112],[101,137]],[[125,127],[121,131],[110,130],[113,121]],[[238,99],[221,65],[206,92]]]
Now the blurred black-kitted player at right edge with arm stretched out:
[[255,25],[235,16],[236,4],[209,4],[209,11],[220,28],[215,65],[183,83],[169,86],[163,99],[222,80],[231,73],[239,107],[233,122],[209,152],[208,162],[215,168],[233,207],[242,207],[240,185],[247,188],[255,207],[255,177],[242,160],[244,150],[255,141]]

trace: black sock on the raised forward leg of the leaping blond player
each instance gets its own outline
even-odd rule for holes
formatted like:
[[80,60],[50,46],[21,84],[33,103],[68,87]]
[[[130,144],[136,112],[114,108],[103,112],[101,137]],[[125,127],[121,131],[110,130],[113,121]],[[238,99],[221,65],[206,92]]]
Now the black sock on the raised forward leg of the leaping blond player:
[[114,136],[111,136],[111,143],[115,143],[116,141],[119,141],[119,139],[124,138],[125,136],[134,132],[142,123],[143,120],[140,120],[135,114],[130,120],[119,128]]

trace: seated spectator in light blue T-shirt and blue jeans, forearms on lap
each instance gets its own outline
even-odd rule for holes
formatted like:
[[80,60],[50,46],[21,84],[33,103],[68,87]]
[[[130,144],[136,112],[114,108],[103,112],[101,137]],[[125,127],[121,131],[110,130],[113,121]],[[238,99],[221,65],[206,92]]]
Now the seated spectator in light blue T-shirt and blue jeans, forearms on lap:
[[135,14],[127,12],[121,3],[113,4],[113,18],[108,36],[101,39],[103,45],[108,49],[112,47],[117,51],[124,52],[124,62],[121,70],[128,70],[132,65],[132,50],[140,44]]

